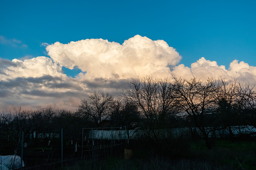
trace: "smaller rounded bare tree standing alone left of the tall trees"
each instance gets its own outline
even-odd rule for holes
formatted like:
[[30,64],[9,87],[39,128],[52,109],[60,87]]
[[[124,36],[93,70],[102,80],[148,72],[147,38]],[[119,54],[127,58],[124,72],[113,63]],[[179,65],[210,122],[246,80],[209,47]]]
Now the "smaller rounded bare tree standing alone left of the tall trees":
[[88,115],[89,119],[100,127],[102,120],[106,120],[111,113],[113,96],[109,92],[91,93],[87,99],[81,100],[78,109]]

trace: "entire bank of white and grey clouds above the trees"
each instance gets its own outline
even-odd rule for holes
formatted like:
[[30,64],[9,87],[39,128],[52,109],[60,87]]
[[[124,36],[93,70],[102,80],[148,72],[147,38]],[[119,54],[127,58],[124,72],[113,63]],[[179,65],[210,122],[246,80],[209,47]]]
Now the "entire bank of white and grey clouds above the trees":
[[[238,78],[242,84],[256,84],[256,67],[234,60],[229,68],[215,61],[198,59],[191,67],[179,64],[181,56],[165,41],[136,35],[123,44],[103,39],[86,39],[68,44],[55,42],[46,47],[51,58],[39,56],[12,61],[0,59],[0,109],[35,109],[52,105],[76,109],[79,101],[93,91],[120,94],[130,78],[146,75],[206,80],[221,76]],[[179,65],[178,65],[179,64]],[[62,66],[83,72],[75,78]],[[171,66],[171,70],[170,70]]]

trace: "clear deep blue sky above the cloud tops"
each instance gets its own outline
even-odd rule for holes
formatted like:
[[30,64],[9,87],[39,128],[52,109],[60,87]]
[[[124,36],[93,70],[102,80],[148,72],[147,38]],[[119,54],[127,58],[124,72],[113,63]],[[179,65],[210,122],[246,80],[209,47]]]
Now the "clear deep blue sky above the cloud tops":
[[256,66],[255,6],[256,1],[2,1],[0,35],[20,44],[1,42],[0,57],[46,56],[41,44],[56,41],[102,38],[122,44],[139,34],[166,41],[188,67],[201,57],[226,69],[235,59]]

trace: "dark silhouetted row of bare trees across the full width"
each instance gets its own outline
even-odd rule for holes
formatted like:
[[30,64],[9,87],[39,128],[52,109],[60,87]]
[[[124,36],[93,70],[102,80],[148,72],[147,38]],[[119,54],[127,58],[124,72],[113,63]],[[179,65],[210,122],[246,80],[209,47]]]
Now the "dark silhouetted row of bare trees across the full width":
[[[208,149],[213,142],[211,131],[231,126],[256,127],[256,91],[250,84],[240,84],[236,78],[226,81],[209,78],[201,81],[173,77],[160,79],[147,76],[128,82],[120,96],[109,92],[93,92],[81,100],[76,110],[52,106],[38,110],[14,108],[0,116],[1,148],[17,151],[22,131],[25,141],[50,144],[63,133],[67,140],[77,143],[82,138],[82,128],[122,127],[143,129],[141,137],[164,144],[172,128],[196,127],[203,134]],[[211,130],[206,130],[211,127]],[[169,138],[170,139],[170,138]],[[1,149],[0,148],[0,149]]]

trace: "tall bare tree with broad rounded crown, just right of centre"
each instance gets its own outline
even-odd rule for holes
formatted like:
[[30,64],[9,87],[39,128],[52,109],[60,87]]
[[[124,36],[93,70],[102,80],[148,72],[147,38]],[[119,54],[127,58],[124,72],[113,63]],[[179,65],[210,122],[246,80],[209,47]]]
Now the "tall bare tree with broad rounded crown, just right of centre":
[[134,79],[122,92],[124,98],[136,104],[145,117],[145,132],[158,141],[163,137],[167,119],[176,106],[173,85],[169,79],[156,79],[152,76]]

